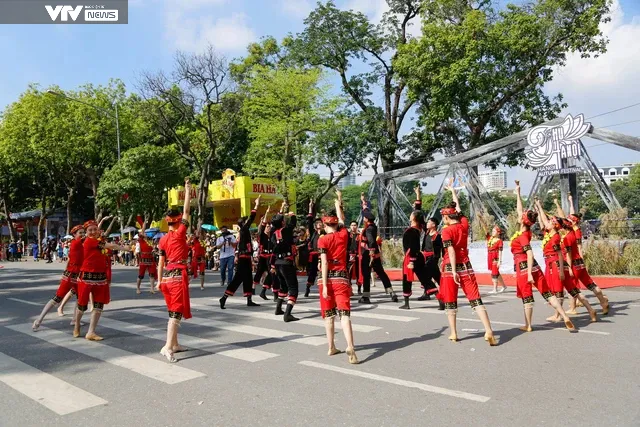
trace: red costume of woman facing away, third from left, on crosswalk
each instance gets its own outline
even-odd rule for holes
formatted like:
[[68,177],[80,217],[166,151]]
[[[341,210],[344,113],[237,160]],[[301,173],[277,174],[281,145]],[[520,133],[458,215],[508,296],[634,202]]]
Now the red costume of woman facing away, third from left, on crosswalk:
[[162,236],[158,249],[165,259],[165,266],[160,282],[160,290],[167,304],[169,317],[174,319],[191,318],[191,301],[189,300],[189,273],[187,262],[189,245],[187,244],[187,228],[189,222],[181,220],[177,230],[169,230]]

